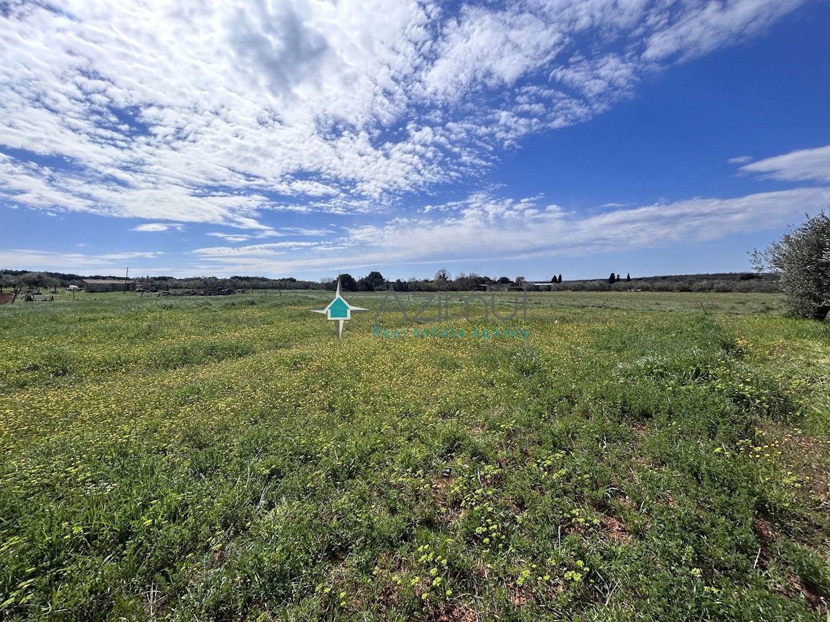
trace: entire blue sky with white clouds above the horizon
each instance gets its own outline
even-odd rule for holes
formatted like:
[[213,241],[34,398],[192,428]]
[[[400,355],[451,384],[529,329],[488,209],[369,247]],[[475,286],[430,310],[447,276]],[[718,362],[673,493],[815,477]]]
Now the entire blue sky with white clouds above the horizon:
[[830,2],[0,0],[0,268],[751,270],[830,206]]

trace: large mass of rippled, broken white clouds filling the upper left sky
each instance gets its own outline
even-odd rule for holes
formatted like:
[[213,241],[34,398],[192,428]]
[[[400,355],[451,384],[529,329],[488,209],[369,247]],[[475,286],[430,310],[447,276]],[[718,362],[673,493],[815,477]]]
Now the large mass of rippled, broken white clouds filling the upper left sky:
[[384,211],[800,2],[7,2],[0,200],[251,235]]

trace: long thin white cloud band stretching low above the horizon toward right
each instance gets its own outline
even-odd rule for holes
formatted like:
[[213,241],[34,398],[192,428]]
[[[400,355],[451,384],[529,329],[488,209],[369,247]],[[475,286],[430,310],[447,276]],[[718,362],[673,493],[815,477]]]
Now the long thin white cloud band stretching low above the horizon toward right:
[[[691,198],[576,214],[540,197],[476,192],[430,214],[362,226],[330,241],[199,249],[204,271],[291,274],[378,265],[476,264],[550,255],[579,256],[696,245],[735,234],[780,229],[830,201],[830,188],[807,187],[734,198]],[[334,252],[332,252],[334,251]]]

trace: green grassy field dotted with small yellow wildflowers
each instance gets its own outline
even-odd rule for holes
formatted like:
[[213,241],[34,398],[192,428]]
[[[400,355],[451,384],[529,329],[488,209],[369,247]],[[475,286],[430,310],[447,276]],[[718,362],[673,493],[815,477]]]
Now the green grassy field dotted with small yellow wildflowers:
[[0,619],[830,619],[830,323],[331,296],[0,308]]

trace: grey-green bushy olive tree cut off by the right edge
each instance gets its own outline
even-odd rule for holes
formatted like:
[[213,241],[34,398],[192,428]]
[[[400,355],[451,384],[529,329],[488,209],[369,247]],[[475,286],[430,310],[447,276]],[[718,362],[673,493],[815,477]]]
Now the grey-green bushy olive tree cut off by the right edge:
[[830,311],[830,216],[822,213],[790,227],[766,250],[754,250],[758,270],[779,274],[784,306],[800,318],[823,320]]

